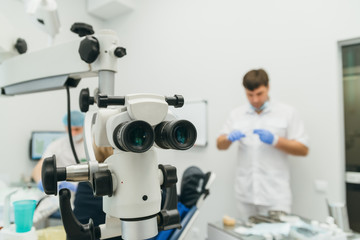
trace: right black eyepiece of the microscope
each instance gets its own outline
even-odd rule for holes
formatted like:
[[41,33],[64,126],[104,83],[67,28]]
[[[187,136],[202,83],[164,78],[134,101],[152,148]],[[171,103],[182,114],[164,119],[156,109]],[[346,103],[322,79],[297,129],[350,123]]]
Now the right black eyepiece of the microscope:
[[196,141],[195,126],[187,120],[162,122],[155,127],[155,142],[164,149],[187,150]]

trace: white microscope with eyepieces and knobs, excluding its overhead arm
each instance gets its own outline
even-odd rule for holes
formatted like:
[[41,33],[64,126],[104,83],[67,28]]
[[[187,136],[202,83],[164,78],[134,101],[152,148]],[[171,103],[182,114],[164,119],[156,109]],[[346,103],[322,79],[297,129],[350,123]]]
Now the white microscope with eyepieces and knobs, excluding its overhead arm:
[[[88,94],[87,89],[82,90],[81,96],[84,94]],[[76,220],[70,206],[69,190],[60,190],[60,210],[68,239],[122,236],[123,239],[139,240],[154,237],[161,230],[180,228],[176,168],[158,165],[156,148],[187,150],[194,145],[194,125],[187,120],[177,120],[168,109],[169,105],[182,106],[184,99],[180,95],[154,94],[100,99],[98,97],[99,106],[124,105],[121,108],[100,107],[86,117],[93,119],[95,144],[111,146],[114,154],[104,163],[89,161],[57,168],[56,156],[46,158],[43,163],[42,180],[47,194],[56,195],[57,182],[66,180],[89,181],[94,195],[103,196],[106,222],[94,227],[91,220],[87,225]],[[82,103],[87,105],[84,100]],[[163,209],[160,209],[161,189],[167,189]]]

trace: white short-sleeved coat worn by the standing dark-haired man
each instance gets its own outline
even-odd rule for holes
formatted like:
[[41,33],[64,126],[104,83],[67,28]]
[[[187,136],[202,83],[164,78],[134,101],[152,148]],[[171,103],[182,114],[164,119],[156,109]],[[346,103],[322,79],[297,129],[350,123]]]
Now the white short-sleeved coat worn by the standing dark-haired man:
[[249,104],[234,109],[221,134],[238,129],[246,137],[237,141],[236,198],[255,205],[291,205],[288,156],[274,146],[263,143],[254,129],[266,129],[279,137],[308,146],[304,124],[294,108],[269,102],[260,114]]

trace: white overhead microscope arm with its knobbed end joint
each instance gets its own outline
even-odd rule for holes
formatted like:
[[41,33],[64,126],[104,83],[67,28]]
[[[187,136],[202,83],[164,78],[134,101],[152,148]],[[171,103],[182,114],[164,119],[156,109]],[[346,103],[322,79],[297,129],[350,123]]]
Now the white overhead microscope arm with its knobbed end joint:
[[81,78],[94,76],[99,76],[99,85],[110,85],[105,90],[113,91],[117,59],[126,54],[118,44],[113,31],[102,30],[96,35],[6,59],[0,64],[1,93],[17,95],[76,87]]

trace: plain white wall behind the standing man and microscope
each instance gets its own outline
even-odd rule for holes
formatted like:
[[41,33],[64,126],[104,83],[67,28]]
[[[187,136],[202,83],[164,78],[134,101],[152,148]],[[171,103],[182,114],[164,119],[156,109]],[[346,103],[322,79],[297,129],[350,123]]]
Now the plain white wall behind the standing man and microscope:
[[[118,32],[128,51],[119,63],[118,95],[176,93],[183,94],[185,99],[208,100],[208,147],[185,152],[159,151],[160,161],[177,166],[179,176],[190,165],[217,174],[211,196],[195,223],[199,236],[192,233],[188,239],[204,239],[207,222],[219,220],[224,214],[235,214],[235,148],[218,151],[215,139],[229,111],[246,102],[241,86],[243,74],[258,67],[270,75],[271,97],[300,111],[311,138],[309,156],[291,158],[293,211],[324,220],[325,197],[344,200],[342,86],[337,41],[359,37],[360,2],[133,2],[133,12],[101,23],[86,16],[83,1],[71,1],[71,5],[70,1],[59,1],[63,21],[73,22],[74,15],[66,13],[66,18],[64,15],[71,6],[92,24],[103,24]],[[64,93],[0,98],[3,116],[0,159],[2,163],[9,162],[0,170],[2,175],[10,174],[16,179],[20,170],[24,172],[30,167],[27,159],[30,131],[60,128],[64,99]],[[326,193],[315,190],[315,180],[328,183]]]

